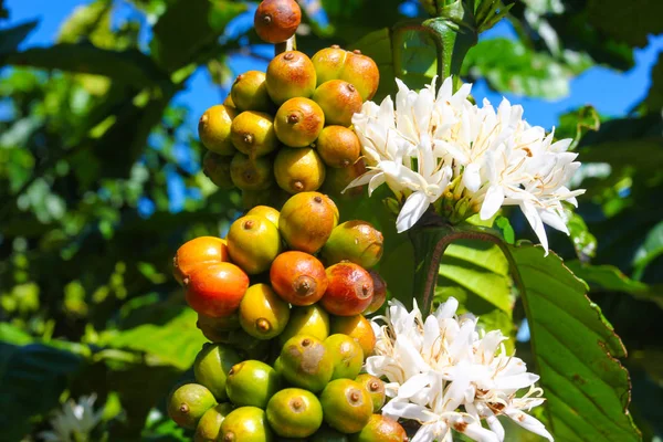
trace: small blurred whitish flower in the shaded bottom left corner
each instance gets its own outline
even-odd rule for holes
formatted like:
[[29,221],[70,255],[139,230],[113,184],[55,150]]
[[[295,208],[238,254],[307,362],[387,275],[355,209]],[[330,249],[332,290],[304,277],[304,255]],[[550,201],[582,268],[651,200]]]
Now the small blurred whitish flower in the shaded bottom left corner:
[[90,433],[103,414],[103,410],[94,411],[95,400],[96,394],[82,396],[77,403],[70,399],[50,420],[53,430],[42,431],[39,435],[44,441],[53,442],[92,441]]

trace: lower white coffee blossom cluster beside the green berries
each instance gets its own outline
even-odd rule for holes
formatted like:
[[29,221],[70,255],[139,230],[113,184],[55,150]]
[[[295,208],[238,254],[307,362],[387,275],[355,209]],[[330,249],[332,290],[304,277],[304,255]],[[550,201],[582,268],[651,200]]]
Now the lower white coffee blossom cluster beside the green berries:
[[[418,421],[413,442],[451,441],[451,430],[475,441],[502,442],[505,431],[497,415],[552,441],[545,425],[526,413],[544,402],[543,390],[535,387],[539,377],[506,354],[502,332],[480,334],[473,315],[456,316],[457,305],[449,298],[423,319],[417,305],[408,312],[390,301],[387,316],[372,319],[377,344],[366,370],[387,378],[390,400],[382,413]],[[524,388],[528,392],[517,397]]]

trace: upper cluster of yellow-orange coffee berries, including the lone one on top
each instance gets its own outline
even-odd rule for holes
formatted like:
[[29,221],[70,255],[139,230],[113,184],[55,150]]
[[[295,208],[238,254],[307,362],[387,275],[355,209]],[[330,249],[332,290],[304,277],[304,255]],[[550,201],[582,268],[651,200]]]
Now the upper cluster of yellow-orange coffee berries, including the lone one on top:
[[[282,42],[299,19],[294,0],[265,0],[255,30],[267,42]],[[280,53],[266,73],[239,75],[225,102],[200,118],[206,175],[221,188],[240,189],[246,207],[318,189],[339,196],[366,171],[350,126],[378,83],[378,66],[359,51],[333,46],[313,59]]]

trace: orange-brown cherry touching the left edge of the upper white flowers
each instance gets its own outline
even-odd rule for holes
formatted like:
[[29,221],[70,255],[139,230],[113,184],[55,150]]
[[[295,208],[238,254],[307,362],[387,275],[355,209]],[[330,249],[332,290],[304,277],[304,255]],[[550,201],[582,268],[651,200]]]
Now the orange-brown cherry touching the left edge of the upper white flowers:
[[361,155],[359,138],[354,130],[343,126],[325,127],[315,141],[315,148],[329,167],[349,167]]

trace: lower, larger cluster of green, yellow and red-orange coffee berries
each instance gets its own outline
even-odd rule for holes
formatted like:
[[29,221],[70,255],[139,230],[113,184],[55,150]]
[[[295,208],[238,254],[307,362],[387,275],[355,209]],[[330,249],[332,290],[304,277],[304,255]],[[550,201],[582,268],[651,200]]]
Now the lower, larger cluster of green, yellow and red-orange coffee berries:
[[367,270],[382,235],[338,218],[328,197],[301,192],[281,211],[253,208],[225,239],[177,251],[175,277],[211,343],[168,411],[197,441],[407,440],[378,413],[382,380],[361,373],[376,345],[364,315],[386,298],[385,281]]

